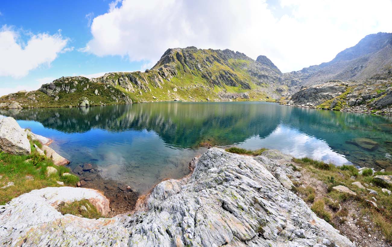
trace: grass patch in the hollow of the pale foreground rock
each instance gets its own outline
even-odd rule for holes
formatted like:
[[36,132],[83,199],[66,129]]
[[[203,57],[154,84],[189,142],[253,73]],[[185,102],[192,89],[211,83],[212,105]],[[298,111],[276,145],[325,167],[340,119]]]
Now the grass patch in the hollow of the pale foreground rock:
[[[85,210],[84,207],[87,210]],[[94,205],[91,204],[91,202],[89,202],[89,200],[86,199],[80,201],[74,201],[71,203],[61,202],[57,206],[57,211],[59,211],[63,215],[71,214],[76,216],[82,216],[84,218],[89,218],[89,219],[103,218],[102,214],[98,212],[96,207],[94,207]]]

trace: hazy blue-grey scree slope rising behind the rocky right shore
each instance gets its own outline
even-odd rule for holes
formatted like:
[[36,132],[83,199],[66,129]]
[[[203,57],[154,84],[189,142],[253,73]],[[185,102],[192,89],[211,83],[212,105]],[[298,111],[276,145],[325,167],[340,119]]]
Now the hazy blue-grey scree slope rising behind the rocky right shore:
[[387,79],[392,75],[392,34],[369,34],[353,47],[339,52],[334,59],[299,71],[285,73],[285,82],[296,92],[303,85],[316,85],[328,80]]

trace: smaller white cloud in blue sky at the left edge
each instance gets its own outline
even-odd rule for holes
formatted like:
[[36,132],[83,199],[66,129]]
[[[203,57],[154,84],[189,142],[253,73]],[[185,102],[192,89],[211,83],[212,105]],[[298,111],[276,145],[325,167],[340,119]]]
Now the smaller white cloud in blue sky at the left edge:
[[24,44],[18,32],[4,25],[0,29],[0,76],[21,78],[40,65],[50,66],[67,42],[58,32],[31,34]]

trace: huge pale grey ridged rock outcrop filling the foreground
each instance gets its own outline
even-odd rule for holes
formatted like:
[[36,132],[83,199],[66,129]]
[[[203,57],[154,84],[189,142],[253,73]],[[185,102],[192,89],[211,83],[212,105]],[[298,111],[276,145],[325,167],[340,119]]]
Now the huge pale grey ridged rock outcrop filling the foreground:
[[290,171],[287,159],[278,151],[265,155],[211,148],[192,160],[191,175],[158,184],[130,216],[61,215],[55,209],[61,201],[98,193],[34,190],[0,206],[0,240],[10,246],[354,246],[268,170]]

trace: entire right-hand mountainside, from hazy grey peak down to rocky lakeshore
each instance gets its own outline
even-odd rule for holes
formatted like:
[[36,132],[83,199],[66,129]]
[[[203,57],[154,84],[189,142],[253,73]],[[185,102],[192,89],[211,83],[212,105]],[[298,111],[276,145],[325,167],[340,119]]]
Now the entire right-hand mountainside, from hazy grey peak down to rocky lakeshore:
[[392,115],[392,34],[370,34],[328,63],[284,76],[295,82],[289,105]]

